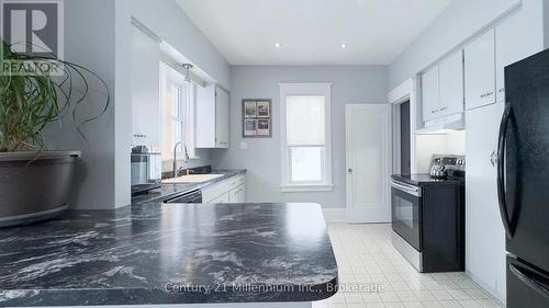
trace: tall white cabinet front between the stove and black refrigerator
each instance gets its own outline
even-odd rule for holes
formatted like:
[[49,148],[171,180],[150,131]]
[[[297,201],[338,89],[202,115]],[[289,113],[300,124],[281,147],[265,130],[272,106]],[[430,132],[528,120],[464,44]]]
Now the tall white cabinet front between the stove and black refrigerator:
[[505,297],[505,230],[496,185],[496,149],[503,104],[467,112],[466,269],[500,300]]

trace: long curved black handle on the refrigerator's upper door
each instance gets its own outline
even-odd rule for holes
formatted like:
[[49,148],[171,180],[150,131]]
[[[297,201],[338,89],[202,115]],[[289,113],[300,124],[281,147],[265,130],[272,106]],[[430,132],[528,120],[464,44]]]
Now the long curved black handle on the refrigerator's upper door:
[[507,125],[509,123],[511,113],[513,112],[511,103],[507,103],[503,113],[502,123],[500,125],[500,136],[497,138],[497,198],[500,201],[500,215],[502,216],[503,226],[507,238],[513,238],[509,216],[507,213],[507,204],[505,202],[505,139],[507,137]]

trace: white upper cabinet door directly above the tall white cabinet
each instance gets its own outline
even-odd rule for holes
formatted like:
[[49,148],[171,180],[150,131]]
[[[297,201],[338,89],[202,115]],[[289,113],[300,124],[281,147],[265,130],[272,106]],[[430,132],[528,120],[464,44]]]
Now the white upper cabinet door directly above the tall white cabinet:
[[495,103],[494,41],[491,28],[464,48],[467,110]]

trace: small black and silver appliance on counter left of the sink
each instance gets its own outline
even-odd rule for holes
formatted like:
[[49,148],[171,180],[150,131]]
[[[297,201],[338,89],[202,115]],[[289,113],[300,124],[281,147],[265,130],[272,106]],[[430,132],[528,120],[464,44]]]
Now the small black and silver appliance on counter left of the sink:
[[132,153],[132,195],[160,187],[161,180],[163,158],[160,153]]

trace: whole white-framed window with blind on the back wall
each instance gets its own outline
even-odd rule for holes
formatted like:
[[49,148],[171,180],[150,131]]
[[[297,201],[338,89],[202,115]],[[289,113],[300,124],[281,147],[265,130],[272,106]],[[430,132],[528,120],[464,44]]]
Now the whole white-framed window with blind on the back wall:
[[282,192],[332,191],[332,84],[280,84]]

